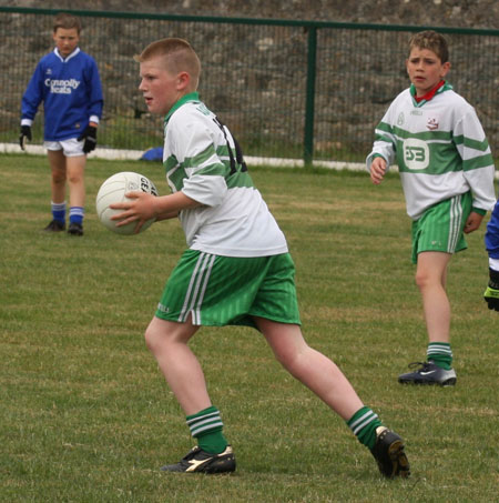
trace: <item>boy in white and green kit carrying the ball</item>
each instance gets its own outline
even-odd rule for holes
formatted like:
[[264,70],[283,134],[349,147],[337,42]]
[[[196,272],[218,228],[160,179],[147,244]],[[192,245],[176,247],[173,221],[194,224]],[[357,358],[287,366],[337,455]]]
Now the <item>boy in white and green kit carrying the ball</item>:
[[182,39],[153,42],[136,57],[149,110],[165,114],[163,163],[172,194],[132,192],[118,224],[179,217],[189,250],[173,270],[145,340],[186,414],[197,445],[166,472],[235,470],[190,339],[201,325],[248,325],[276,359],[339,414],[370,449],[380,472],[407,476],[401,439],[363,404],[339,369],[301,331],[294,264],[284,234],[256,190],[230,130],[200,101],[201,64]]

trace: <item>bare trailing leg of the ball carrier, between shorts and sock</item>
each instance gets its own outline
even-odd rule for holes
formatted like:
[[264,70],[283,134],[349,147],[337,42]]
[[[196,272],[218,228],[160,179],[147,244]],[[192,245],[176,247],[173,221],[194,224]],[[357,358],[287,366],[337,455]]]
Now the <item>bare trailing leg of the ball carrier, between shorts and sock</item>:
[[277,361],[345,421],[363,406],[352,384],[336,364],[312,349],[295,324],[255,318]]

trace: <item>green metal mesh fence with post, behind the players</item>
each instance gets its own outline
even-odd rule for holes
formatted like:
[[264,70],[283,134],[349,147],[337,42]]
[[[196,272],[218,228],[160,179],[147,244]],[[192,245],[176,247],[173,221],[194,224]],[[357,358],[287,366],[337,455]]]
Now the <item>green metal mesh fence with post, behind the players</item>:
[[[0,141],[16,142],[21,97],[52,49],[57,10],[0,8]],[[187,39],[202,66],[201,97],[248,155],[360,161],[374,127],[408,85],[410,36],[428,27],[132,12],[68,11],[81,18],[81,48],[104,88],[100,147],[162,144],[162,119],[146,112],[133,56],[164,37]],[[434,28],[450,42],[449,81],[499,142],[499,30]],[[42,113],[35,142],[41,143]]]

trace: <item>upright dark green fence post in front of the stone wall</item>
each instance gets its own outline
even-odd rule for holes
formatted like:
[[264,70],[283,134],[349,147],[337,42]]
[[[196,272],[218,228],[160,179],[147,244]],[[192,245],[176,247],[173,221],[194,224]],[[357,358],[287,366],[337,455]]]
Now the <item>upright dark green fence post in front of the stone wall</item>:
[[304,161],[312,165],[314,157],[315,72],[317,59],[317,28],[308,27],[307,41],[307,89],[305,101]]

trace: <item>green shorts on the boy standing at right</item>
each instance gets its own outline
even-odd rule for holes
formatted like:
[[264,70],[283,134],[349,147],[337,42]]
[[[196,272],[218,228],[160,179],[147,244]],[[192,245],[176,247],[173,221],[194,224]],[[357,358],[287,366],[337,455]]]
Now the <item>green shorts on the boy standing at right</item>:
[[468,244],[462,232],[471,212],[471,192],[441,201],[413,222],[413,263],[424,251],[456,253]]

